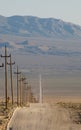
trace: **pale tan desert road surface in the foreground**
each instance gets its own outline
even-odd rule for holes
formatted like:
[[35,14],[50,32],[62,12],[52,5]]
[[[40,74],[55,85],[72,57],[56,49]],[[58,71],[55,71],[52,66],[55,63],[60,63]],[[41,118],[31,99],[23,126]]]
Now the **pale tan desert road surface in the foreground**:
[[17,108],[7,130],[81,130],[71,121],[69,112],[57,104],[31,104]]

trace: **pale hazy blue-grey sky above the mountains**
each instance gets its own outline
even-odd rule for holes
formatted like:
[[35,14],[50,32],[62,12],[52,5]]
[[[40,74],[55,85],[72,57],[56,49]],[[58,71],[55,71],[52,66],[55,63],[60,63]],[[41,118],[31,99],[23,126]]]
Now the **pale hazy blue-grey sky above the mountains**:
[[53,17],[81,25],[81,0],[0,0],[0,15]]

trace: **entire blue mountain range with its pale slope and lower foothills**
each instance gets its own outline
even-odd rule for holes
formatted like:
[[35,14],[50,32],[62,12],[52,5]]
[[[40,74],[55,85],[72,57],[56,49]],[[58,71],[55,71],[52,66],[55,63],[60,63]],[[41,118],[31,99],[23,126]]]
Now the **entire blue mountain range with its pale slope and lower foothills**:
[[[25,54],[81,54],[81,26],[54,18],[0,16],[0,48]],[[73,43],[73,46],[67,46]],[[76,49],[76,44],[78,48]]]

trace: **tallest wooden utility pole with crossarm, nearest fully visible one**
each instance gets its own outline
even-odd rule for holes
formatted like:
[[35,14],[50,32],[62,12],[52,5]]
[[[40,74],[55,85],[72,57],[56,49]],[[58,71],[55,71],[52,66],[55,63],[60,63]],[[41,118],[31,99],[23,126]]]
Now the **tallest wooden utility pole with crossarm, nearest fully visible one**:
[[1,57],[5,58],[5,103],[6,103],[6,109],[8,108],[8,103],[7,103],[7,96],[8,96],[8,70],[7,70],[7,58],[10,57],[10,55],[7,55],[7,47],[5,46],[5,56]]

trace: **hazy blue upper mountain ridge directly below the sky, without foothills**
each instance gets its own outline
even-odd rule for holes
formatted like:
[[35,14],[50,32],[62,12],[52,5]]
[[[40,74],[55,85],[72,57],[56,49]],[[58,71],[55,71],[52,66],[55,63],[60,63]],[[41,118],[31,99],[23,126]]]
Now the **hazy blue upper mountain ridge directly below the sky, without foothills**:
[[81,26],[54,18],[34,16],[0,16],[0,34],[23,37],[81,39]]

